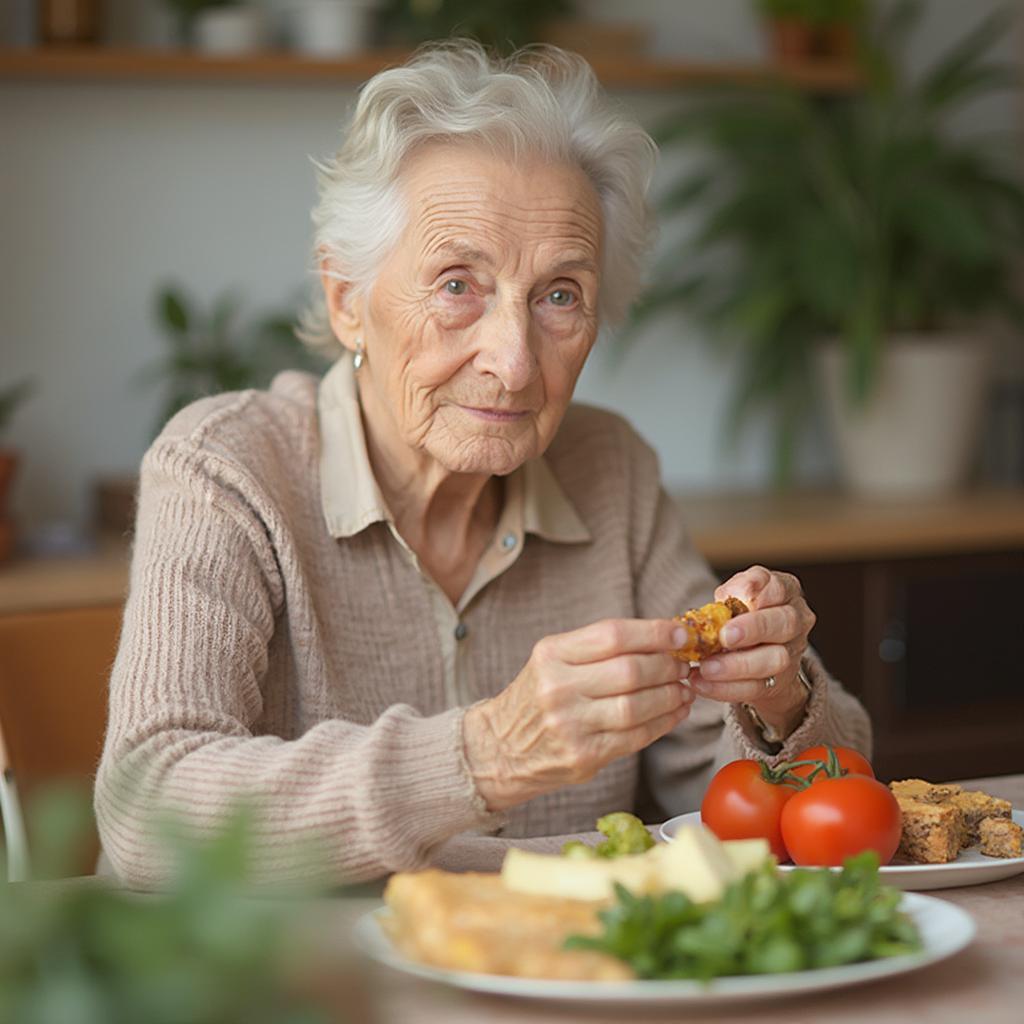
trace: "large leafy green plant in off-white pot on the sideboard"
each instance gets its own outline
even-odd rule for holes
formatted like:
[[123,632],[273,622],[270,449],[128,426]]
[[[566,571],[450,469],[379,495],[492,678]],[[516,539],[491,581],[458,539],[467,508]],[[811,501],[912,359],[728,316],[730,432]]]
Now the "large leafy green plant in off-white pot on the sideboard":
[[[1024,188],[1013,146],[949,130],[968,102],[1016,84],[1013,69],[988,56],[1007,18],[985,19],[911,77],[901,53],[920,12],[903,0],[880,15],[854,95],[733,91],[663,132],[669,148],[697,155],[664,197],[663,217],[695,225],[662,263],[641,311],[688,306],[740,349],[730,416],[738,427],[751,410],[774,408],[779,481],[792,475],[806,414],[824,390],[838,403],[837,427],[882,439],[840,438],[852,485],[954,486],[984,395],[980,325],[1020,323],[1024,310]],[[922,365],[927,374],[945,367],[948,396]],[[899,378],[925,393],[901,392]],[[895,419],[868,422],[887,401]],[[947,439],[945,451],[924,452],[918,435],[930,431]]]

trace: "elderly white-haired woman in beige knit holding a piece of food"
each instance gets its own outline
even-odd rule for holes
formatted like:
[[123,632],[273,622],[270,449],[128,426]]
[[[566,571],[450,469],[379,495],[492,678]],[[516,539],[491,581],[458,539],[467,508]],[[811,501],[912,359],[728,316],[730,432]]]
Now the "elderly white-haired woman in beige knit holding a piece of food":
[[[651,450],[570,404],[634,296],[653,159],[555,50],[453,44],[362,90],[314,215],[307,334],[340,358],[195,403],[143,462],[96,795],[125,880],[160,877],[155,807],[202,831],[248,797],[265,870],[319,836],[365,879],[867,748],[798,581],[716,589]],[[688,673],[671,616],[713,593],[752,610]]]

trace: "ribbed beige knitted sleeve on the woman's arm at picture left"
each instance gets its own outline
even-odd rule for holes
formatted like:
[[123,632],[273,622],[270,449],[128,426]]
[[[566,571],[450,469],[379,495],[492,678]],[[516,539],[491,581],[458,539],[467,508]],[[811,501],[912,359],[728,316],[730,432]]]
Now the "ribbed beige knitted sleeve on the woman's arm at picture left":
[[157,817],[208,834],[240,797],[266,878],[298,870],[313,843],[335,879],[416,868],[452,836],[494,826],[464,762],[461,709],[397,705],[369,726],[259,734],[286,594],[256,486],[188,438],[159,440],[143,462],[95,791],[103,848],[129,885],[166,877]]

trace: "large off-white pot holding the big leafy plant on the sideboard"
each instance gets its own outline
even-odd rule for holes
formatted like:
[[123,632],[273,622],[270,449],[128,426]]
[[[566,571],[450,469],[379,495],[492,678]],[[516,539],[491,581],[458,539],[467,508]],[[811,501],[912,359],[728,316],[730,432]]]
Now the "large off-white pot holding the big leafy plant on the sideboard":
[[817,373],[843,482],[874,497],[955,490],[977,454],[991,366],[978,337],[899,335],[889,339],[863,408],[847,396],[846,353],[838,342],[816,354]]

